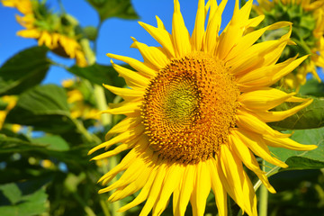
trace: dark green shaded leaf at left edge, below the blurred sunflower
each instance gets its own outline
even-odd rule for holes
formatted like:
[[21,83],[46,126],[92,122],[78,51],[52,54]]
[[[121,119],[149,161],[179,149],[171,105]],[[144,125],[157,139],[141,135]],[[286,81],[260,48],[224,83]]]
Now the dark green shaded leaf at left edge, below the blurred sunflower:
[[33,47],[10,58],[0,67],[0,95],[21,94],[40,84],[49,69],[48,49]]

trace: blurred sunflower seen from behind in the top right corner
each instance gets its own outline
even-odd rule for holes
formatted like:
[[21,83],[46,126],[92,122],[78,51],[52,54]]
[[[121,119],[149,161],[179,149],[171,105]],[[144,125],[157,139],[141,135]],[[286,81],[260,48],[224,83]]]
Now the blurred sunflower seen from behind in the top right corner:
[[324,1],[312,0],[257,0],[257,14],[266,15],[266,25],[278,21],[293,23],[291,39],[298,45],[287,48],[284,58],[297,53],[310,55],[293,73],[285,76],[284,85],[299,89],[311,73],[320,82],[317,67],[324,67]]

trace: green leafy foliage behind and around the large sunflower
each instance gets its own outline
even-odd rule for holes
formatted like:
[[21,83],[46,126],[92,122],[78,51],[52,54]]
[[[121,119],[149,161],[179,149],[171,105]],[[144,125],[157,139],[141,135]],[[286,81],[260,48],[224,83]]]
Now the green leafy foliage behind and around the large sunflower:
[[[88,2],[97,10],[101,23],[112,17],[139,18],[130,0]],[[88,27],[84,31],[88,40],[96,40],[97,28]],[[49,67],[56,64],[47,57],[49,51],[46,47],[22,50],[0,68],[0,96],[18,96],[0,130],[0,215],[139,215],[140,205],[125,213],[115,212],[134,196],[110,203],[106,201],[109,194],[97,193],[102,186],[96,181],[115,166],[122,155],[100,163],[89,162],[95,155],[87,156],[88,150],[101,143],[104,133],[122,116],[111,117],[107,125],[72,117],[67,89],[41,84]],[[125,85],[110,66],[94,63],[89,67],[66,69],[80,78],[79,90],[85,98],[91,99],[95,86],[102,83]],[[321,215],[324,212],[324,85],[311,79],[302,86],[300,94],[313,98],[314,102],[271,126],[287,132],[294,130],[294,140],[316,144],[319,148],[310,152],[271,148],[275,157],[284,160],[289,168],[266,164],[270,182],[277,191],[269,194],[269,215]],[[104,97],[108,103],[121,100],[108,91],[104,92]],[[90,101],[93,102],[90,105],[98,108],[95,100]],[[0,99],[0,109],[4,110],[6,105]],[[284,103],[276,109],[292,105]],[[23,132],[14,133],[13,124],[23,125]],[[43,135],[35,138],[33,130],[43,131]],[[49,166],[45,166],[46,161],[50,161]],[[258,185],[256,176],[248,174]],[[239,214],[238,206],[230,200],[229,203],[231,214]],[[191,214],[190,206],[187,213]],[[211,194],[206,215],[216,214]],[[172,215],[171,205],[164,215]]]

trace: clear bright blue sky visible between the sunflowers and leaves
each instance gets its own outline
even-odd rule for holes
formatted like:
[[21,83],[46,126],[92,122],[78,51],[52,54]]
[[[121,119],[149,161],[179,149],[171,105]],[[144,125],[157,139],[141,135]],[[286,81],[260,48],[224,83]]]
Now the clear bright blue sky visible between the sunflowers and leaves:
[[[77,2],[77,4],[76,4]],[[149,23],[156,26],[157,15],[166,25],[166,29],[171,31],[172,14],[173,14],[173,0],[133,0],[131,1],[135,11],[139,14],[139,20],[143,23]],[[197,9],[197,0],[180,0],[181,12],[184,16],[184,22],[191,32],[193,31],[195,13]],[[72,14],[79,21],[82,27],[88,25],[96,26],[99,23],[99,18],[90,4],[85,0],[62,0],[68,14]],[[229,3],[223,14],[223,26],[229,23],[232,15],[235,0],[229,0]],[[58,10],[57,0],[48,0],[49,7]],[[14,56],[20,50],[27,49],[31,46],[37,45],[36,40],[24,39],[16,36],[16,31],[22,30],[23,27],[15,21],[15,14],[19,14],[14,8],[4,7],[0,4],[0,65],[4,64],[5,60]],[[151,36],[139,26],[136,20],[122,20],[112,18],[103,23],[99,34],[98,48],[97,48],[97,62],[104,65],[110,64],[110,59],[106,53],[120,54],[130,56],[131,58],[141,59],[137,49],[130,49],[134,37],[140,42],[145,42],[148,45],[158,45]],[[74,60],[67,58],[59,58],[55,54],[49,54],[49,58],[63,63],[67,66],[72,66]],[[59,84],[62,80],[73,77],[64,69],[60,67],[51,67],[44,83]]]

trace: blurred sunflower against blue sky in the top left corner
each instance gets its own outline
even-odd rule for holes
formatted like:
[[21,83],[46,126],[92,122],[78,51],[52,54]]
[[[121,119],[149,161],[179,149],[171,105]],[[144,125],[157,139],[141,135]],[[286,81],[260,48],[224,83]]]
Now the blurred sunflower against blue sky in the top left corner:
[[[50,14],[44,2],[32,0],[2,0],[4,6],[15,7],[23,14],[16,15],[16,20],[25,30],[18,31],[17,35],[23,38],[38,40],[39,46],[45,45],[55,53],[66,58],[76,58],[76,64],[80,67],[87,65],[85,53],[79,41],[79,36],[70,31],[68,23],[74,19],[68,15],[58,18],[56,14]],[[64,22],[62,21],[64,20]]]

